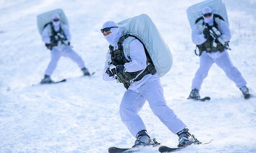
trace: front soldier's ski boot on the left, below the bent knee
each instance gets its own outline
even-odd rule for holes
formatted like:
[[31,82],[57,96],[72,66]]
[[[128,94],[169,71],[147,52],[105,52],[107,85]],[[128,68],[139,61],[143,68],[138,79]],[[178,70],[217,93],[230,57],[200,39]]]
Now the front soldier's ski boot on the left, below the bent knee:
[[149,136],[146,130],[141,130],[137,134],[136,138],[137,139],[135,141],[135,144],[132,146],[132,148],[139,147],[139,146],[160,145],[160,143],[158,143],[155,138],[151,139],[151,137]]

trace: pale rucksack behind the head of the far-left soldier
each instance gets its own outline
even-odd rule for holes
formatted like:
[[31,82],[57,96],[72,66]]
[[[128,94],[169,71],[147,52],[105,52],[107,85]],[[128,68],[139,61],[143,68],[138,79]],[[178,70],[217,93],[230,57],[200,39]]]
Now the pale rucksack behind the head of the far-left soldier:
[[51,23],[51,18],[53,16],[53,14],[55,14],[55,13],[59,14],[61,23],[68,26],[68,19],[65,16],[62,9],[51,10],[51,11],[39,14],[37,16],[37,28],[38,28],[38,31],[40,34],[46,27],[46,24]]

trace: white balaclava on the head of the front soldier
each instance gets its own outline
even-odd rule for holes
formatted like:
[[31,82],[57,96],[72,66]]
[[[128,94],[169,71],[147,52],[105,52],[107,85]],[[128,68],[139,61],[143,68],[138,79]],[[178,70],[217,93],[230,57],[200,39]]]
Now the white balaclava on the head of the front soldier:
[[[118,27],[118,24],[116,24],[114,21],[107,21],[103,24],[102,29],[111,27],[111,26]],[[104,38],[107,40],[107,42],[110,43],[110,45],[112,45],[114,47],[114,50],[116,50],[118,48],[117,42],[118,42],[119,38],[121,37],[121,32],[119,31],[119,28],[111,28],[110,31],[111,31],[111,33],[107,36],[104,36]]]

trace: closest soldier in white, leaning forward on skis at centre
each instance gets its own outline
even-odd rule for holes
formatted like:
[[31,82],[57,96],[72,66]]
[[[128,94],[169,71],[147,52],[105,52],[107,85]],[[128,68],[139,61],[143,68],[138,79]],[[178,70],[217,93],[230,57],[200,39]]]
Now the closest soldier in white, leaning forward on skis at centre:
[[[104,23],[101,32],[107,42],[110,43],[103,71],[103,80],[112,81],[116,79],[123,83],[127,89],[121,100],[119,113],[123,123],[136,138],[133,148],[159,144],[155,139],[151,139],[138,115],[146,101],[149,102],[154,115],[168,129],[179,136],[179,147],[198,142],[188,132],[182,120],[167,106],[160,78],[145,53],[144,45],[136,38],[122,35],[118,24],[114,21]],[[124,51],[124,45],[129,46],[129,56]],[[112,61],[111,64],[109,58]]]

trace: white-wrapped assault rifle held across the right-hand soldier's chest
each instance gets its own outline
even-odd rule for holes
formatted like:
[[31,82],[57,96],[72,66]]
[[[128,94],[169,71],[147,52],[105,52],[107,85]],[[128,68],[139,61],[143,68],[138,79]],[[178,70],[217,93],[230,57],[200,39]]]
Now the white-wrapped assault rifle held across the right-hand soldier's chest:
[[218,40],[226,49],[230,49],[230,47],[228,46],[228,42],[225,42],[220,36],[221,36],[221,32],[219,30],[217,30],[217,28],[215,28],[214,26],[212,26],[212,28],[209,26],[209,24],[205,24],[205,26],[207,27],[207,29],[210,32],[210,36],[213,38],[213,46],[217,47],[217,43],[216,40]]

